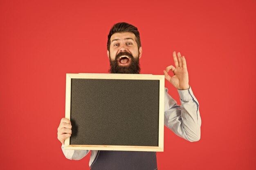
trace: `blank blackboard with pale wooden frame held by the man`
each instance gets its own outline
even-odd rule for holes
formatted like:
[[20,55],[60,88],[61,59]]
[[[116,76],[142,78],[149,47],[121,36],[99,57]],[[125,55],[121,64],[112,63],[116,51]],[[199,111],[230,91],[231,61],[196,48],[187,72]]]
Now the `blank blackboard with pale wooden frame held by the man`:
[[67,74],[72,135],[65,148],[162,151],[163,80],[163,75]]

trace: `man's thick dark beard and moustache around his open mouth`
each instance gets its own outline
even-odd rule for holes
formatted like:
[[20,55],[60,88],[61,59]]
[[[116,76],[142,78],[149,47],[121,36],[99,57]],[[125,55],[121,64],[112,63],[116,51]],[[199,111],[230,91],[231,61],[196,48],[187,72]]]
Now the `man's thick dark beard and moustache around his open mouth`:
[[[118,58],[122,55],[127,55],[130,57],[131,61],[128,66],[120,66],[118,64]],[[119,73],[119,74],[139,74],[140,72],[140,65],[139,65],[139,56],[133,57],[132,54],[128,52],[120,52],[117,54],[115,60],[111,60],[109,58],[110,62],[110,69],[108,70],[110,73]]]

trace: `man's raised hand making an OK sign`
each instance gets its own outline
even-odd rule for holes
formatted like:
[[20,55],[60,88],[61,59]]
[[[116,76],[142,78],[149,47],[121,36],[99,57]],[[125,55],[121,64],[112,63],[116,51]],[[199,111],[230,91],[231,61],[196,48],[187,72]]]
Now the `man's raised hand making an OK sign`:
[[[173,60],[175,66],[168,66],[164,70],[164,77],[178,90],[189,89],[189,73],[186,69],[186,59],[181,57],[180,52],[177,53],[179,60],[177,60],[176,52],[173,51]],[[173,76],[168,75],[169,70],[173,72]]]

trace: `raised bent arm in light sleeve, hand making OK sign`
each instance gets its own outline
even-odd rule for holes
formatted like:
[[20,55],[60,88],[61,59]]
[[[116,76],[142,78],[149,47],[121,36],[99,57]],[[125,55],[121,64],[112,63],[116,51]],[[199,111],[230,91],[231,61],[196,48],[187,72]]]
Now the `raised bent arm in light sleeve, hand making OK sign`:
[[[181,106],[165,91],[164,124],[176,135],[188,140],[200,139],[201,118],[199,104],[189,86],[189,73],[186,67],[186,59],[180,53],[173,52],[174,66],[168,66],[164,70],[164,76],[168,82],[177,88],[180,95]],[[173,76],[168,75],[172,71]]]

